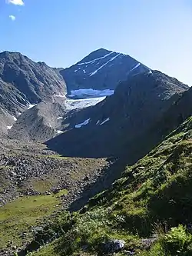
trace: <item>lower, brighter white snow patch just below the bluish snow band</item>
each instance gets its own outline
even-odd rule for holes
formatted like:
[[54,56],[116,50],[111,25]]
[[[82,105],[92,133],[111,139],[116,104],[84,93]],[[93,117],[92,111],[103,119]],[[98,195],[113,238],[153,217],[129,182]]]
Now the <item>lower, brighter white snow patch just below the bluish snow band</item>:
[[74,109],[88,108],[98,104],[100,101],[103,101],[105,97],[98,98],[84,98],[84,99],[66,99],[65,108],[67,111],[72,111]]

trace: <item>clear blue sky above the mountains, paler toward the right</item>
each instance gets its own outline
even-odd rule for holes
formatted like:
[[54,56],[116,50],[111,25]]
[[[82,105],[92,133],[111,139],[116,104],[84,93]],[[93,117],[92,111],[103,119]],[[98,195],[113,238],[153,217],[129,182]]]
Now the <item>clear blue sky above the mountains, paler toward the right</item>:
[[0,25],[0,52],[65,68],[107,48],[192,85],[192,0],[0,0]]

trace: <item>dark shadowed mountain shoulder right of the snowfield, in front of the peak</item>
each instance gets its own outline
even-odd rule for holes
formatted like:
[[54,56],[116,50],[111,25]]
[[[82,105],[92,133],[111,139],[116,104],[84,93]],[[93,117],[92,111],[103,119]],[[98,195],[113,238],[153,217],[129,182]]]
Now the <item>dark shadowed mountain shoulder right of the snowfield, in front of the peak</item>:
[[[70,124],[68,131],[47,144],[65,155],[93,158],[132,151],[137,139],[146,135],[187,88],[159,71],[135,75],[121,82],[114,95],[65,119]],[[74,128],[85,120],[89,120],[87,125]],[[137,151],[130,161],[134,158]]]

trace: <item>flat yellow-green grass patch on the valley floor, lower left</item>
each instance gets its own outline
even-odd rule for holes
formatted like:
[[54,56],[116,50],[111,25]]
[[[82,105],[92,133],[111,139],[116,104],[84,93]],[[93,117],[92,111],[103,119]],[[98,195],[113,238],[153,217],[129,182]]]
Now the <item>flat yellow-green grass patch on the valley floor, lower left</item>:
[[0,248],[8,246],[10,241],[19,246],[22,240],[30,240],[32,229],[61,207],[59,197],[62,194],[67,191],[18,198],[0,208]]

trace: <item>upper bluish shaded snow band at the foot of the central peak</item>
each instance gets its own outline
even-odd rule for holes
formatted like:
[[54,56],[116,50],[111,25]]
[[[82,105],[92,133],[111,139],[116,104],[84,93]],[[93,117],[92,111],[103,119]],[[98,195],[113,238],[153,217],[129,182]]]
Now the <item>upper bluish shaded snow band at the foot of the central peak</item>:
[[69,97],[75,97],[75,96],[82,96],[82,95],[88,95],[91,97],[99,97],[99,96],[109,96],[109,95],[113,95],[114,94],[114,90],[110,90],[110,89],[105,89],[105,90],[94,90],[92,88],[88,88],[88,89],[78,89],[78,90],[72,90],[71,91],[71,95],[69,95]]

